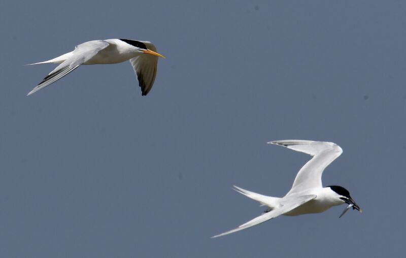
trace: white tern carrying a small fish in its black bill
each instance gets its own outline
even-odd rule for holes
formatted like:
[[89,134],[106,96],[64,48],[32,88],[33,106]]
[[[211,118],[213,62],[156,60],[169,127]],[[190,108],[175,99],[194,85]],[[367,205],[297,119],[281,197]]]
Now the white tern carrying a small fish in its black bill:
[[339,157],[343,150],[332,142],[316,142],[304,140],[281,140],[268,142],[289,149],[307,153],[313,158],[309,160],[297,173],[290,191],[282,198],[260,195],[234,185],[234,190],[267,206],[265,213],[240,225],[238,228],[213,236],[220,237],[240,230],[258,225],[279,215],[297,216],[308,213],[320,213],[332,206],[348,204],[341,213],[344,215],[351,207],[359,212],[361,208],[351,198],[347,189],[342,186],[331,185],[323,187],[321,174],[334,159]]

